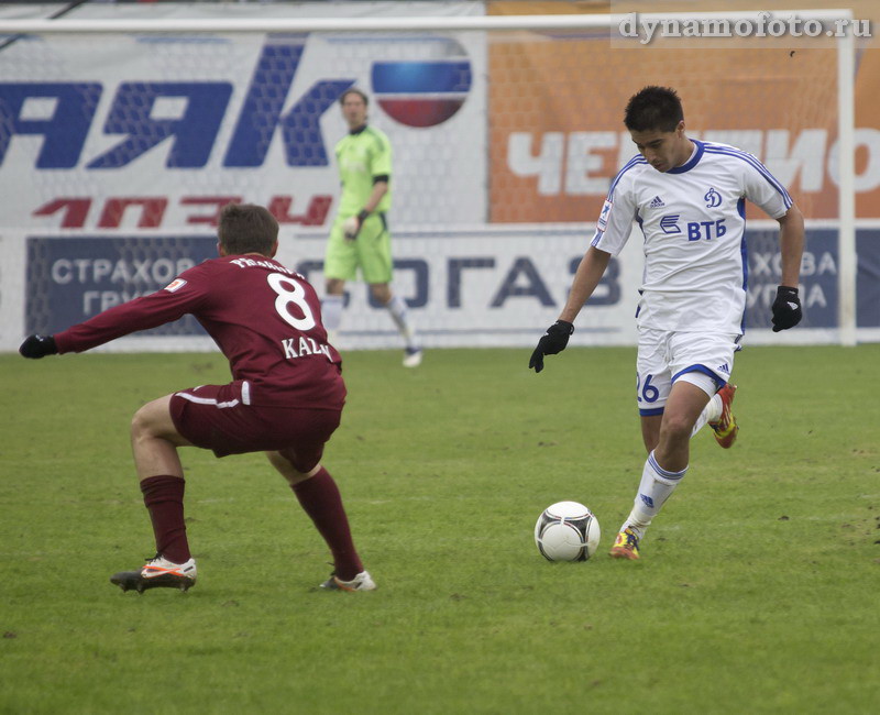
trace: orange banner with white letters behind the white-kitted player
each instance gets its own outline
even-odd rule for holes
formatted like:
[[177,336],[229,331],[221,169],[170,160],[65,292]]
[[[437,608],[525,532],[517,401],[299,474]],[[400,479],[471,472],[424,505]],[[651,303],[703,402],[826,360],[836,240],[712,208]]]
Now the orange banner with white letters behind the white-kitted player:
[[[610,180],[637,153],[623,114],[648,85],[678,90],[690,136],[751,152],[805,217],[836,218],[836,50],[679,45],[619,48],[598,29],[493,37],[491,220],[595,221]],[[878,57],[877,48],[857,57],[859,218],[880,218]]]

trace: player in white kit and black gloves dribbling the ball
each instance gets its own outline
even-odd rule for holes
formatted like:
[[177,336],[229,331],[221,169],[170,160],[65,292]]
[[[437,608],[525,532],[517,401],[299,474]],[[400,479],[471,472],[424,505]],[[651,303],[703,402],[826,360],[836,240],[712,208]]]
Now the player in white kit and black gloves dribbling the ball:
[[648,459],[629,516],[610,556],[639,558],[651,519],[688,472],[690,439],[706,422],[729,448],[738,427],[730,409],[734,353],[746,306],[745,201],[779,221],[781,285],[773,331],[801,320],[798,296],[804,221],[785,188],[751,154],[685,134],[673,89],[634,95],[624,123],[639,154],[612,183],[596,232],[559,320],[548,328],[529,367],[562,351],[573,322],[636,221],[645,237],[637,311],[637,400]]

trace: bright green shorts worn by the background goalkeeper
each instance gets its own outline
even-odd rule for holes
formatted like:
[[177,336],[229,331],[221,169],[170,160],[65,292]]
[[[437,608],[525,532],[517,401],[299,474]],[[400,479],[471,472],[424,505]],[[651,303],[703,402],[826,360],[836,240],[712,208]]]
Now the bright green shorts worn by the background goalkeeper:
[[323,261],[324,278],[355,280],[360,267],[365,283],[391,283],[392,237],[385,215],[367,216],[354,241],[346,241],[342,234],[345,218],[338,216],[330,231]]

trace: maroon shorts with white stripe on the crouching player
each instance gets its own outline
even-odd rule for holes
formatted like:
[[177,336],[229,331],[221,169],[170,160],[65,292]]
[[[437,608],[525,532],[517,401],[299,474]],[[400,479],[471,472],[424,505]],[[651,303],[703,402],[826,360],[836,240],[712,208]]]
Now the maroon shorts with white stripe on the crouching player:
[[278,451],[298,472],[311,471],[339,427],[341,409],[249,405],[248,383],[202,385],[175,393],[170,413],[177,431],[217,457]]

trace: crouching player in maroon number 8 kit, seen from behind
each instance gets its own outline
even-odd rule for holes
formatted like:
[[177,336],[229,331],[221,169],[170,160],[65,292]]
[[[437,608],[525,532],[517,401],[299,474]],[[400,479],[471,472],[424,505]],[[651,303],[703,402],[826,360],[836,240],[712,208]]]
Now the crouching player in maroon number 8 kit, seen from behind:
[[132,420],[134,465],[156,538],[156,557],[110,580],[123,591],[196,583],[184,524],[178,447],[217,457],[265,451],[333,554],[324,588],[376,587],[354,548],[333,477],[320,464],[345,402],[341,359],[327,342],[320,300],[298,273],[273,261],[278,223],[263,207],[229,205],[220,215],[220,257],[54,336],[30,336],[25,358],[82,352],[194,315],[229,360],[233,381],[183,389],[147,403]]

